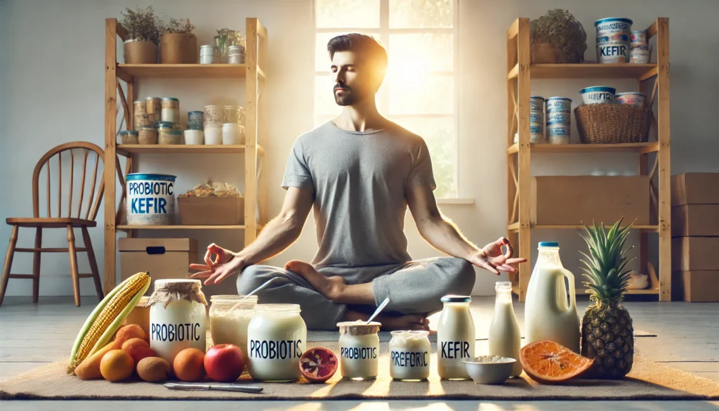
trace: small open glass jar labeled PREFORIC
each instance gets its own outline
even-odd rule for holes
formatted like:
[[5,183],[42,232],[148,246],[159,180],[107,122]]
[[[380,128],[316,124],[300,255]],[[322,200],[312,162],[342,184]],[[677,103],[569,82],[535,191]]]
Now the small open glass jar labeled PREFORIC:
[[393,331],[390,340],[390,376],[400,381],[429,378],[429,331]]

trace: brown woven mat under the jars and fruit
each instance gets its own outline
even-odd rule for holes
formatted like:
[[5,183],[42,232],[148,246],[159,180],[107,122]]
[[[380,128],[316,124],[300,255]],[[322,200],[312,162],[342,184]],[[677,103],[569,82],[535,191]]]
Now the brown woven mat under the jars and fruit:
[[[310,344],[312,345],[312,344]],[[336,345],[328,344],[336,350]],[[0,399],[719,399],[719,382],[671,369],[641,356],[627,379],[576,380],[540,385],[525,374],[504,385],[441,381],[432,354],[429,381],[400,382],[389,377],[387,344],[380,346],[380,376],[375,381],[342,380],[339,372],[326,384],[259,383],[245,374],[241,381],[264,388],[262,394],[184,392],[145,382],[81,381],[65,374],[65,363],[52,363],[0,382]]]

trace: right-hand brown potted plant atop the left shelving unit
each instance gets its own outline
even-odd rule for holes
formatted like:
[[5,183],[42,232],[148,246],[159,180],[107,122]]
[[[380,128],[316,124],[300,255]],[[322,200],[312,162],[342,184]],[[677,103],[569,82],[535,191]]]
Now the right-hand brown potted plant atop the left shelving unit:
[[160,63],[197,63],[197,37],[190,19],[170,19],[160,27]]

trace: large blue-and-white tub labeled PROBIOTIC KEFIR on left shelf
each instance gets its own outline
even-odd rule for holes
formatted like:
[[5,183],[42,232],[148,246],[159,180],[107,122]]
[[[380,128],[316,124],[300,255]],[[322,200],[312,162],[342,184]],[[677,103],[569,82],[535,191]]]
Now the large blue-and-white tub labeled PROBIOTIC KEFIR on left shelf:
[[175,176],[127,175],[127,224],[172,225],[175,222]]

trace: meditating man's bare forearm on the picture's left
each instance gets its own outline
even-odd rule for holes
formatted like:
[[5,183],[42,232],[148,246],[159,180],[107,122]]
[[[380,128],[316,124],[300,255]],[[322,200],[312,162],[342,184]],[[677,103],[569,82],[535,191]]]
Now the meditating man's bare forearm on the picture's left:
[[278,216],[265,225],[255,241],[237,253],[248,264],[257,264],[282,253],[302,232],[302,225],[291,218]]

